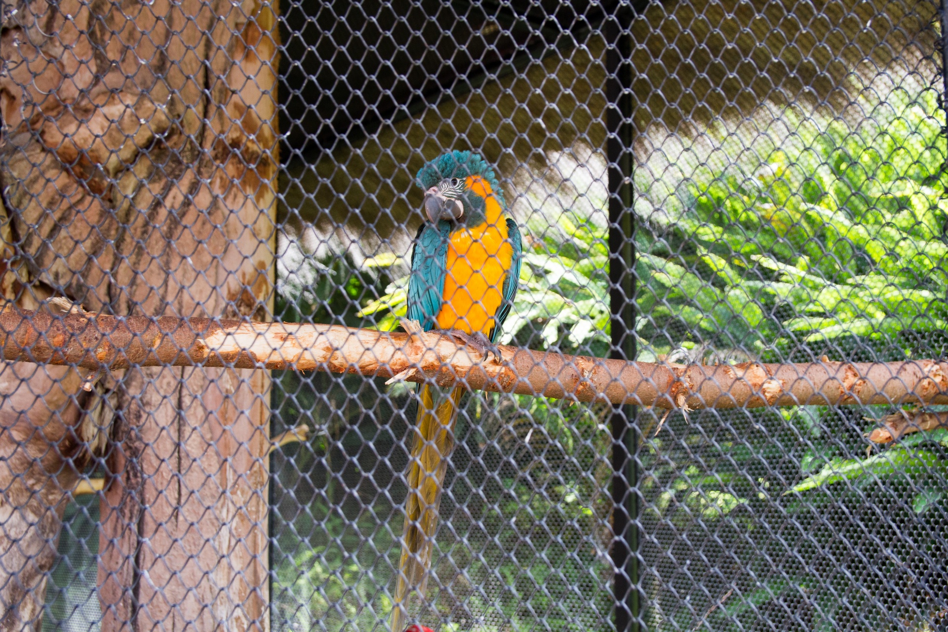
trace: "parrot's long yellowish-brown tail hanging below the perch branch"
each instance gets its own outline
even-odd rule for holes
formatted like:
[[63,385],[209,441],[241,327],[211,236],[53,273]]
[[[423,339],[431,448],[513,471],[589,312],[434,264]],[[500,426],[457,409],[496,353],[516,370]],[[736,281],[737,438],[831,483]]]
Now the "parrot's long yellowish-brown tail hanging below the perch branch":
[[412,592],[424,599],[431,567],[438,505],[447,474],[447,459],[454,448],[454,424],[465,388],[454,387],[447,397],[428,384],[419,393],[418,416],[408,465],[405,531],[398,582],[392,604],[392,632],[402,632]]

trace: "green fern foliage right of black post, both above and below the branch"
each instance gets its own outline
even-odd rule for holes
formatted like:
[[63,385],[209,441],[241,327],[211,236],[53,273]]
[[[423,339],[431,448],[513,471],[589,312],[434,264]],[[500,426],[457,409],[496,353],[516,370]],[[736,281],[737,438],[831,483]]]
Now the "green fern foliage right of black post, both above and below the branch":
[[[865,119],[856,127],[842,118],[788,112],[790,138],[760,133],[748,151],[728,146],[735,141],[725,137],[724,161],[712,154],[686,178],[640,187],[640,360],[943,354],[943,114],[933,93],[895,92],[884,103],[864,99],[861,105]],[[734,160],[738,153],[744,157]],[[640,174],[643,185],[649,175]],[[753,546],[740,564],[761,573],[773,572],[761,556],[785,555],[787,547],[812,560],[834,540],[858,540],[865,527],[854,514],[861,507],[884,513],[901,525],[901,535],[924,546],[932,529],[925,521],[944,511],[948,431],[916,433],[866,454],[864,431],[876,424],[863,415],[890,411],[882,408],[706,411],[693,413],[691,425],[673,415],[669,429],[644,446],[647,524],[675,534],[666,543],[655,536],[669,548],[693,532],[696,540],[704,532],[724,542],[727,534],[732,541],[747,539]],[[805,537],[791,546],[793,533],[781,531],[774,543],[772,534],[759,533],[765,515],[775,517],[770,524],[792,517]],[[866,546],[860,554],[874,559],[872,545]],[[708,560],[707,567],[691,569],[695,576],[702,568],[727,572],[731,556],[744,554],[725,547],[716,565],[713,551],[709,545],[695,551]],[[753,626],[756,613],[770,608],[793,611],[791,626],[831,630],[860,610],[838,599],[837,590],[848,586],[830,569],[797,567],[793,560],[779,568],[782,578],[760,577],[726,595],[705,628]],[[884,572],[896,577],[902,570]],[[810,595],[809,613],[790,605],[801,590]],[[865,621],[874,616],[868,599],[860,612]],[[653,623],[690,629],[700,620],[682,616]]]

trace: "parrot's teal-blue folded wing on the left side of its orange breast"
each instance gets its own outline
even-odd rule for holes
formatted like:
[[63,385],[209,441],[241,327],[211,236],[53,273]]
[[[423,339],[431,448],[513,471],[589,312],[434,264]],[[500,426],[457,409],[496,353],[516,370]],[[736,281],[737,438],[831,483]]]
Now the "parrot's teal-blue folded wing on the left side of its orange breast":
[[411,251],[408,317],[421,323],[426,332],[434,329],[445,295],[450,230],[448,222],[440,222],[437,228],[424,223]]

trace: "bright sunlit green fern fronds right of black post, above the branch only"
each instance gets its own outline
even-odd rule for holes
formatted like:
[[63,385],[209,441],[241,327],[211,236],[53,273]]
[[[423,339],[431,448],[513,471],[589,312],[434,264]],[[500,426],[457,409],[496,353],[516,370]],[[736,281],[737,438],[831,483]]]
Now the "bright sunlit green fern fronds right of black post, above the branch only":
[[649,214],[659,239],[639,258],[640,334],[655,352],[679,342],[662,340],[669,321],[776,356],[800,342],[898,345],[946,328],[936,96],[865,105],[856,130],[789,112],[789,142],[756,139],[763,164],[709,161],[674,189],[671,211]]

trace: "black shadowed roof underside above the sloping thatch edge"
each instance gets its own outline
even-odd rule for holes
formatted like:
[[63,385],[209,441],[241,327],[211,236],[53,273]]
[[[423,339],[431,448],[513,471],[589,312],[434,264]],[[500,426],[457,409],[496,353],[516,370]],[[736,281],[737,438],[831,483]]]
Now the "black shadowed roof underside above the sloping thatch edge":
[[284,142],[292,153],[332,151],[582,44],[613,10],[586,0],[292,2],[283,7]]

